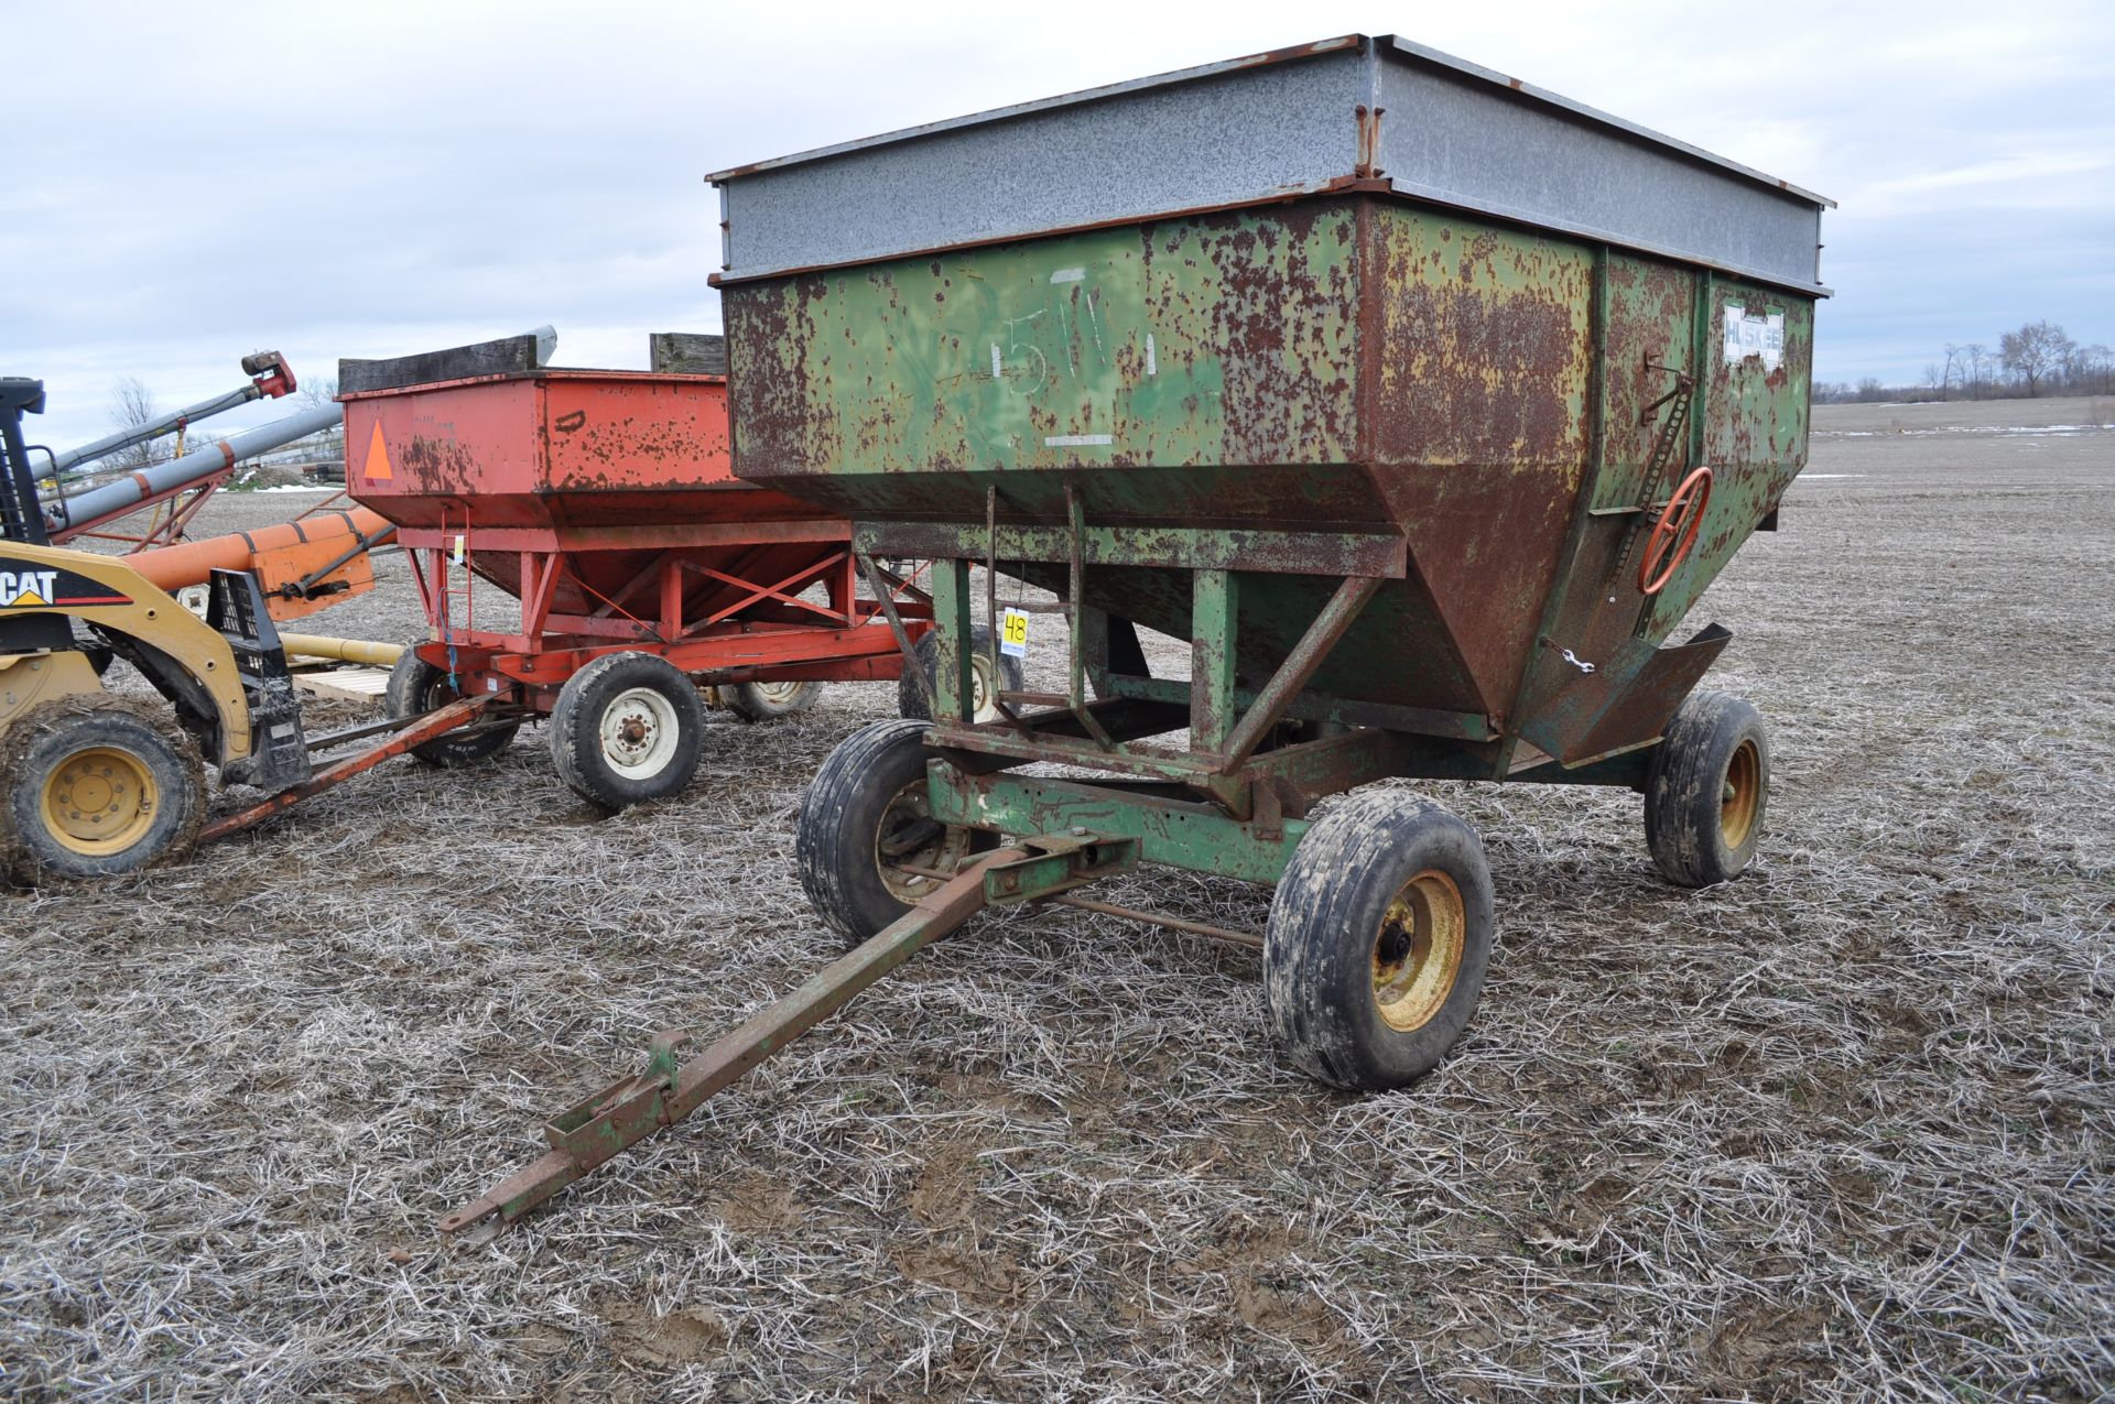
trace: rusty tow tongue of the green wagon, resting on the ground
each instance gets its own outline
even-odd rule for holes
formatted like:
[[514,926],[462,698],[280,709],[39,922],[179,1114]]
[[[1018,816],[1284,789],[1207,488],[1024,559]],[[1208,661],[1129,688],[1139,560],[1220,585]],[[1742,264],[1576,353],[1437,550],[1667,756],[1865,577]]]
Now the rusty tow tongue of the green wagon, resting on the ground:
[[916,956],[920,947],[952,935],[986,907],[1053,897],[1136,865],[1134,839],[1093,833],[1032,837],[981,854],[903,918],[816,971],[793,994],[715,1038],[689,1061],[679,1057],[685,1045],[698,1040],[694,1030],[656,1034],[645,1068],[552,1119],[544,1127],[550,1150],[442,1218],[440,1233],[465,1248],[489,1243],[508,1224],[573,1180],[592,1174],[626,1146],[689,1116],[744,1072],[844,1009],[852,996]]

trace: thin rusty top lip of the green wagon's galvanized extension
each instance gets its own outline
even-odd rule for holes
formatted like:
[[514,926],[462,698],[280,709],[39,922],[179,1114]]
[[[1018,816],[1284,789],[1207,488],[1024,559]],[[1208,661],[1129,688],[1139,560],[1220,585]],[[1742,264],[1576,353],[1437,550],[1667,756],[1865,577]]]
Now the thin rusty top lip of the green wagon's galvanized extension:
[[1392,55],[1400,55],[1400,57],[1404,57],[1404,59],[1409,59],[1413,63],[1428,63],[1432,68],[1447,68],[1447,70],[1451,70],[1455,74],[1461,74],[1461,76],[1468,76],[1468,78],[1478,78],[1483,82],[1489,82],[1493,87],[1506,89],[1510,93],[1519,93],[1519,95],[1535,99],[1540,104],[1563,108],[1565,112],[1569,112],[1569,114],[1574,114],[1574,116],[1578,116],[1578,118],[1582,118],[1586,123],[1593,123],[1593,125],[1599,125],[1599,127],[1607,127],[1610,131],[1618,131],[1618,133],[1622,133],[1622,135],[1626,135],[1626,137],[1631,137],[1635,142],[1643,142],[1648,146],[1660,146],[1660,148],[1665,148],[1669,152],[1677,152],[1677,154],[1681,154],[1681,156],[1686,156],[1690,161],[1715,167],[1715,169],[1726,171],[1730,176],[1739,176],[1741,180],[1747,180],[1751,184],[1777,190],[1779,195],[1789,195],[1791,199],[1800,199],[1800,201],[1806,201],[1806,203],[1823,207],[1823,209],[1836,209],[1836,201],[1832,201],[1829,197],[1817,195],[1813,190],[1806,190],[1804,186],[1796,186],[1789,180],[1781,180],[1781,178],[1770,176],[1766,171],[1758,171],[1751,165],[1741,165],[1739,161],[1730,161],[1730,159],[1719,156],[1715,152],[1709,152],[1709,150],[1705,150],[1700,146],[1692,146],[1690,142],[1681,142],[1677,137],[1671,137],[1667,133],[1654,131],[1650,127],[1641,127],[1637,123],[1631,123],[1631,121],[1624,121],[1620,116],[1614,116],[1612,112],[1603,112],[1599,108],[1590,108],[1590,106],[1586,106],[1582,101],[1574,101],[1574,99],[1569,99],[1569,97],[1565,97],[1561,93],[1552,93],[1552,91],[1535,87],[1531,82],[1523,82],[1523,80],[1506,76],[1506,74],[1502,74],[1502,72],[1497,72],[1493,68],[1483,68],[1481,63],[1470,63],[1468,59],[1457,59],[1451,53],[1442,53],[1438,49],[1432,49],[1428,44],[1419,44],[1415,40],[1406,40],[1406,38],[1396,36],[1396,34],[1379,34],[1379,36],[1371,36],[1371,34],[1341,34],[1337,38],[1316,40],[1311,44],[1292,44],[1292,47],[1286,47],[1286,49],[1265,49],[1263,53],[1242,55],[1237,59],[1222,59],[1218,63],[1201,63],[1197,68],[1178,68],[1178,70],[1172,70],[1172,72],[1165,72],[1165,74],[1153,74],[1153,76],[1146,76],[1146,78],[1132,78],[1127,82],[1108,82],[1108,85],[1102,85],[1102,87],[1081,89],[1077,93],[1060,93],[1058,97],[1038,97],[1034,101],[1022,101],[1022,104],[1013,104],[1013,106],[1007,106],[1007,108],[990,108],[986,112],[971,112],[967,116],[950,116],[950,118],[943,118],[943,121],[937,121],[937,123],[920,123],[918,127],[899,127],[897,131],[884,131],[880,135],[861,137],[857,142],[838,142],[833,146],[816,146],[812,150],[793,152],[791,156],[772,156],[770,161],[751,161],[747,165],[730,165],[730,167],[725,167],[721,171],[711,171],[704,180],[709,184],[719,186],[719,184],[728,184],[732,180],[742,180],[744,176],[761,176],[766,171],[778,171],[778,169],[787,169],[787,167],[793,167],[793,165],[808,165],[812,161],[827,161],[831,156],[844,156],[844,154],[850,154],[850,152],[876,150],[876,148],[882,148],[882,146],[897,146],[897,144],[903,144],[903,142],[918,142],[922,137],[939,135],[943,131],[958,131],[958,129],[964,129],[964,127],[979,127],[979,125],[988,125],[988,123],[1005,123],[1005,121],[1013,121],[1013,118],[1019,118],[1019,116],[1032,116],[1036,112],[1051,112],[1051,110],[1058,110],[1058,108],[1074,108],[1074,106],[1085,106],[1085,104],[1093,104],[1093,101],[1106,101],[1110,97],[1123,97],[1127,93],[1140,93],[1140,91],[1148,91],[1148,89],[1178,87],[1178,85],[1184,85],[1184,82],[1199,82],[1199,80],[1216,78],[1220,74],[1237,72],[1237,70],[1244,70],[1244,68],[1265,68],[1265,66],[1271,66],[1271,63],[1296,63],[1301,59],[1313,59],[1313,57],[1320,57],[1320,55],[1326,55],[1326,53],[1343,53],[1345,49],[1360,49],[1360,51],[1373,53],[1373,55],[1392,53]]

